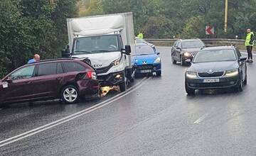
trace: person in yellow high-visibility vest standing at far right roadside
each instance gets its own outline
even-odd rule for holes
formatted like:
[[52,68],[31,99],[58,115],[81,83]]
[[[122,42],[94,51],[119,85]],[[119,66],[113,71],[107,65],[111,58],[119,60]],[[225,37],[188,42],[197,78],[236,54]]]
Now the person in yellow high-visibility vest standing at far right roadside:
[[247,29],[247,36],[245,40],[245,46],[247,49],[248,57],[246,62],[253,62],[252,61],[252,47],[254,45],[254,33],[250,30],[250,28]]

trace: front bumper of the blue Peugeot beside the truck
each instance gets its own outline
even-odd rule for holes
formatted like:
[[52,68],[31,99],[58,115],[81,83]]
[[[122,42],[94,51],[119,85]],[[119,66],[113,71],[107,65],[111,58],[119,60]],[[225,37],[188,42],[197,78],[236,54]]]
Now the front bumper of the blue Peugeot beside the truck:
[[137,65],[136,73],[152,73],[161,71],[161,63],[151,64],[151,65]]

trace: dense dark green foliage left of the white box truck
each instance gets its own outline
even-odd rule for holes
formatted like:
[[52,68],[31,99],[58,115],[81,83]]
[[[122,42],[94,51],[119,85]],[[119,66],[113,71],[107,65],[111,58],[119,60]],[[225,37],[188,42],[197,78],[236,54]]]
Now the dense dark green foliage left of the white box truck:
[[73,0],[0,1],[0,77],[33,54],[59,57],[68,40],[66,18],[77,16]]

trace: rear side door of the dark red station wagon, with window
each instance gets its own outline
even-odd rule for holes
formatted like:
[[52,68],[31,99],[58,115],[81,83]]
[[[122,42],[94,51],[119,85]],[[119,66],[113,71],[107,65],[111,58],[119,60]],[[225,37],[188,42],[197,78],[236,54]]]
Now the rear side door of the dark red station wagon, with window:
[[36,97],[57,98],[64,77],[60,62],[44,62],[36,67],[35,86]]

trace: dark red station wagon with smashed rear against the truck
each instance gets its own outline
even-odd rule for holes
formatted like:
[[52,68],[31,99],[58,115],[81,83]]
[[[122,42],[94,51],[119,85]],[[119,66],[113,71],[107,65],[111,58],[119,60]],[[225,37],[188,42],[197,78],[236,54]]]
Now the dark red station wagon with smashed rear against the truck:
[[74,59],[44,60],[19,67],[0,81],[0,104],[62,99],[72,104],[99,96],[95,69]]

